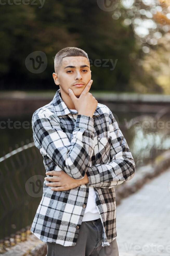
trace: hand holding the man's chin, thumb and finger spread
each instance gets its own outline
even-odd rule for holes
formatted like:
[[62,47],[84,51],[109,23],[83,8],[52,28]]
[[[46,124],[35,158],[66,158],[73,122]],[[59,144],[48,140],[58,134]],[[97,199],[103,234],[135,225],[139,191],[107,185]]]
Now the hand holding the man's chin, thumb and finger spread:
[[79,115],[88,115],[90,117],[93,117],[93,113],[96,110],[98,101],[93,97],[93,95],[89,92],[91,84],[93,83],[93,80],[90,80],[82,93],[80,94],[80,97],[77,98],[71,90],[69,92],[69,96],[71,100],[74,103],[74,106],[76,110],[78,111]]

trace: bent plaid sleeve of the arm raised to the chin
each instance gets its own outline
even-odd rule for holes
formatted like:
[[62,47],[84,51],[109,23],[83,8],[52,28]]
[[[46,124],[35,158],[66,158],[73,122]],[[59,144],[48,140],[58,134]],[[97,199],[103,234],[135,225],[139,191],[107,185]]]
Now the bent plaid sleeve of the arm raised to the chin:
[[77,115],[71,142],[53,115],[34,112],[33,139],[42,155],[47,155],[74,179],[83,179],[90,164],[94,140],[94,119]]

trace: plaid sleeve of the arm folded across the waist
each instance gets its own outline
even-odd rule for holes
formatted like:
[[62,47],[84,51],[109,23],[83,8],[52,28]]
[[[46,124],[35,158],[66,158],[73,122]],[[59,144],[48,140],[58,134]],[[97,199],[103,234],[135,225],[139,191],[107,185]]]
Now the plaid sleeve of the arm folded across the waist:
[[109,109],[110,163],[97,164],[87,169],[89,183],[94,187],[112,188],[133,178],[135,162],[119,126]]

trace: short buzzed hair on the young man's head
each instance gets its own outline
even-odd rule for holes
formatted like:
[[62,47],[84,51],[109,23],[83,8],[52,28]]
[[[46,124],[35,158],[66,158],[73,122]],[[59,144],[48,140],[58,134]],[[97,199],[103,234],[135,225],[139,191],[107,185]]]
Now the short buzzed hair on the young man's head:
[[[57,73],[58,69],[60,68],[62,59],[64,57],[69,57],[69,56],[83,56],[83,57],[86,57],[89,61],[87,53],[85,51],[83,51],[82,49],[77,48],[77,47],[65,47],[65,48],[61,49],[60,51],[58,51],[58,53],[55,55],[55,59],[54,59],[55,73]],[[90,63],[90,61],[89,61],[89,63]]]

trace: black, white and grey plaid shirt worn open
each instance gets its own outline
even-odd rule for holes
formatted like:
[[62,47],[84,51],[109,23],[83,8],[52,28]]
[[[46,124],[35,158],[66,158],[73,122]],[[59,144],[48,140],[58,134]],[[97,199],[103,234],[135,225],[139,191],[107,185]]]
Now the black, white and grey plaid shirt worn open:
[[43,242],[75,246],[89,186],[93,186],[103,225],[102,246],[109,246],[117,236],[115,186],[133,178],[135,162],[106,105],[98,103],[93,118],[78,114],[75,120],[75,113],[67,108],[58,89],[53,100],[32,116],[34,143],[46,171],[63,170],[74,179],[82,179],[87,173],[89,183],[53,191],[44,181],[30,230]]

